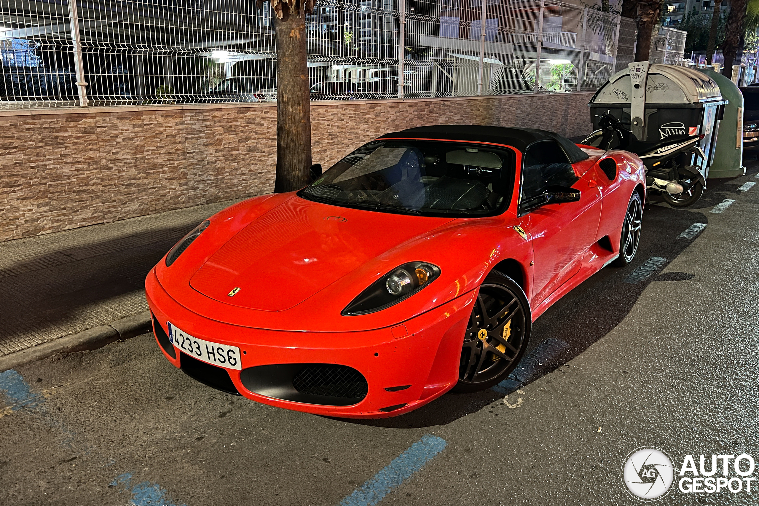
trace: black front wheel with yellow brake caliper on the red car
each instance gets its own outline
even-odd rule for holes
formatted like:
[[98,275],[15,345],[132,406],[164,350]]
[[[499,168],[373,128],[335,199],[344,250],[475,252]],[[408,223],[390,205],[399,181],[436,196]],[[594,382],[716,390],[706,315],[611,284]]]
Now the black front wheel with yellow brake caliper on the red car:
[[484,390],[506,379],[527,350],[531,325],[521,287],[509,276],[490,272],[469,317],[454,391]]

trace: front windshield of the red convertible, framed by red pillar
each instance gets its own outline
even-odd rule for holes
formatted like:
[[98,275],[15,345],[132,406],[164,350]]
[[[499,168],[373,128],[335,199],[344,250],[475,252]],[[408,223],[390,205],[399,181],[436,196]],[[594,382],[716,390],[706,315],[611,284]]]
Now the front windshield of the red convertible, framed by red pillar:
[[514,153],[477,143],[376,140],[298,193],[335,206],[424,215],[495,215],[509,206]]

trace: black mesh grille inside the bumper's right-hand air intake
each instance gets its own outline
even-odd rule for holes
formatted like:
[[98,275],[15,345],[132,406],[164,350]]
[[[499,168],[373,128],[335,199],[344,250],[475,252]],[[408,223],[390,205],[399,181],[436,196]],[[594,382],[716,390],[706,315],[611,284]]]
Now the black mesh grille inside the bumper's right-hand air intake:
[[369,391],[367,380],[356,369],[320,363],[301,369],[292,379],[292,385],[301,394],[348,399],[363,399]]

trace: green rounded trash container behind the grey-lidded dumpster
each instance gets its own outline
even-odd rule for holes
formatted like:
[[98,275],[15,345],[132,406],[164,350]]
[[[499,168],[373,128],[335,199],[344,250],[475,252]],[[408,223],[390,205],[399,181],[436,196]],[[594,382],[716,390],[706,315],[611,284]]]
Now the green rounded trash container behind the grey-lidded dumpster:
[[709,168],[709,179],[735,178],[746,173],[743,166],[743,93],[732,80],[710,68],[699,68],[720,86],[723,99],[729,100],[716,134],[714,159]]

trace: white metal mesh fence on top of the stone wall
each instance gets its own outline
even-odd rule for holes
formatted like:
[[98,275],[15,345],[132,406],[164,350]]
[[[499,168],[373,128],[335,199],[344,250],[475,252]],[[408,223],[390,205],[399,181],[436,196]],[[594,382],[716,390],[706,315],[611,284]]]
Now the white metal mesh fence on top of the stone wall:
[[[632,20],[484,1],[319,0],[312,99],[594,90],[632,61]],[[0,0],[0,16],[2,108],[276,100],[269,2]]]

